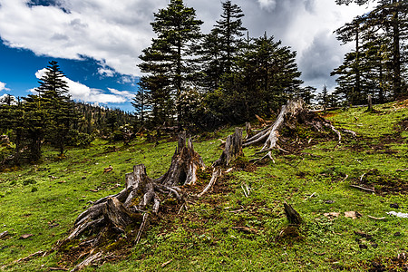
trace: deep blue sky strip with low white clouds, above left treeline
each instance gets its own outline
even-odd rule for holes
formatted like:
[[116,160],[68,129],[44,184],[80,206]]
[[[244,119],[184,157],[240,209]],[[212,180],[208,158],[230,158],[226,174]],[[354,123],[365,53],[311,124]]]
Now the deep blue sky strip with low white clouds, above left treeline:
[[[0,91],[0,96],[5,93],[13,96],[32,93],[32,89],[39,86],[38,77],[42,73],[38,72],[50,61],[56,61],[65,73],[67,81],[71,83],[70,89],[79,89],[79,95],[72,93],[76,101],[98,103],[126,112],[133,111],[131,98],[138,90],[138,77],[114,73],[92,58],[70,60],[37,56],[30,50],[10,48],[2,41],[0,60],[0,83],[5,83],[0,85],[0,89],[1,86],[4,88]],[[87,92],[91,92],[90,95],[82,98]]]

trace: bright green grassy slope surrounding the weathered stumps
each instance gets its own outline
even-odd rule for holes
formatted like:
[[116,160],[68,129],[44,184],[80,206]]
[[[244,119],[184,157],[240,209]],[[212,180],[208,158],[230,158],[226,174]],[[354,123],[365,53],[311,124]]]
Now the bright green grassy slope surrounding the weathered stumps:
[[[327,117],[336,127],[356,131],[356,140],[345,138],[338,146],[326,141],[298,154],[276,152],[276,163],[229,172],[188,211],[152,222],[127,256],[84,271],[364,271],[373,261],[392,267],[392,257],[406,252],[408,241],[407,219],[386,214],[408,213],[407,135],[395,126],[407,119],[408,109],[398,103],[375,109],[380,113],[357,108]],[[232,131],[195,142],[206,165],[219,158],[218,138]],[[175,147],[171,141],[156,145],[139,139],[123,146],[97,140],[88,149],[70,150],[64,160],[54,160],[56,152],[47,150],[37,166],[0,173],[0,233],[10,233],[0,239],[1,269],[48,271],[67,265],[55,253],[13,262],[65,238],[88,201],[119,191],[134,164],[144,163],[149,176],[160,176]],[[244,153],[249,157],[255,151]],[[103,174],[109,165],[112,172]],[[245,184],[248,198],[241,188]],[[377,193],[350,184],[374,187]],[[288,228],[283,201],[301,214],[300,229]],[[393,203],[401,208],[390,208]],[[346,218],[346,211],[363,216]],[[340,215],[328,219],[328,212]],[[34,236],[22,239],[23,234]]]

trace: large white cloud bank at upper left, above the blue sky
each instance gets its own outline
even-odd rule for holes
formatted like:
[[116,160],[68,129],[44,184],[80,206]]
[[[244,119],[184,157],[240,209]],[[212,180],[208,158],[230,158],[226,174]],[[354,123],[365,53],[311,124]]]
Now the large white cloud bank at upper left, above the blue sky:
[[138,56],[151,43],[153,11],[167,5],[166,0],[58,0],[58,5],[47,6],[27,2],[0,0],[5,44],[55,58],[105,60],[116,72],[131,75],[140,74]]

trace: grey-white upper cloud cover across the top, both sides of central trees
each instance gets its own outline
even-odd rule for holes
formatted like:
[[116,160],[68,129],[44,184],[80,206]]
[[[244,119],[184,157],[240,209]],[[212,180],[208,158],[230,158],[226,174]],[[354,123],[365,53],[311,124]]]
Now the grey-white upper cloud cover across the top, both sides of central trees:
[[[168,0],[48,0],[45,5],[27,5],[29,0],[0,0],[0,36],[8,46],[25,48],[38,55],[82,59],[100,63],[98,73],[140,76],[137,68],[141,50],[151,44],[153,13],[169,4]],[[32,1],[42,2],[42,1]],[[44,1],[43,1],[44,2]],[[205,22],[204,33],[216,24],[221,14],[219,0],[185,0]],[[341,58],[339,44],[325,46],[322,32],[328,34],[366,10],[364,6],[335,5],[334,0],[233,0],[242,7],[244,26],[249,35],[258,37],[266,31],[298,53],[325,50]],[[320,37],[320,38],[319,38]],[[332,39],[332,38],[330,38]],[[306,63],[306,60],[302,62]],[[306,69],[305,65],[302,65]],[[329,67],[326,67],[327,69]],[[329,77],[332,67],[326,71]],[[315,69],[316,71],[316,69]],[[304,71],[305,73],[305,71]],[[308,73],[308,72],[306,72]],[[312,76],[313,73],[308,73]],[[316,79],[321,74],[316,74]],[[125,80],[125,79],[124,79]]]

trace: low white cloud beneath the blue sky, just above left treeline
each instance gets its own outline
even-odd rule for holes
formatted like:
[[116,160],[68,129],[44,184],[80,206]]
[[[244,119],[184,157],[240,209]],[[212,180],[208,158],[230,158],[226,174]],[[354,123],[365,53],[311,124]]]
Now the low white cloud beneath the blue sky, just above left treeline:
[[[46,68],[38,70],[35,76],[40,79],[44,76]],[[83,83],[74,82],[73,80],[63,77],[63,80],[67,83],[69,92],[73,100],[81,102],[97,102],[97,103],[122,103],[130,102],[134,97],[134,93],[128,91],[118,91],[112,88],[108,88],[108,92],[101,89],[90,88]],[[35,92],[34,89],[30,92]]]

